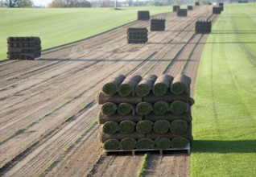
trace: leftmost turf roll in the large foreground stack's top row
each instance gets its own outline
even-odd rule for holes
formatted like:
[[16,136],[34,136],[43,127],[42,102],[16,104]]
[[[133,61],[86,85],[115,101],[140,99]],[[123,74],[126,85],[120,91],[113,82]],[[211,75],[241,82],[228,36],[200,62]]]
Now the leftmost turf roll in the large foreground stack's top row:
[[111,77],[102,88],[102,91],[107,95],[114,95],[118,92],[119,85],[123,80],[126,79],[126,76],[119,74],[118,76]]

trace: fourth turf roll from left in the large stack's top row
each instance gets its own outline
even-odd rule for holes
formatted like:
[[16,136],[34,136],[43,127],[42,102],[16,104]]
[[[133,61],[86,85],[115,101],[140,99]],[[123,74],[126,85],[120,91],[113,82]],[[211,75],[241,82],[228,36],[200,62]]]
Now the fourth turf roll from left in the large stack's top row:
[[156,96],[163,96],[167,93],[167,90],[170,88],[171,81],[173,77],[167,74],[160,75],[156,80],[153,86],[153,93]]

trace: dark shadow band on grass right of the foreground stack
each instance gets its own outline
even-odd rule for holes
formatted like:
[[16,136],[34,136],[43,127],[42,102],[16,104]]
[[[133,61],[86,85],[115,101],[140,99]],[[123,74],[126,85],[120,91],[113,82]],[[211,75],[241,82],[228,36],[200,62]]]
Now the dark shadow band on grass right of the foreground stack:
[[194,140],[192,153],[256,153],[256,140]]

